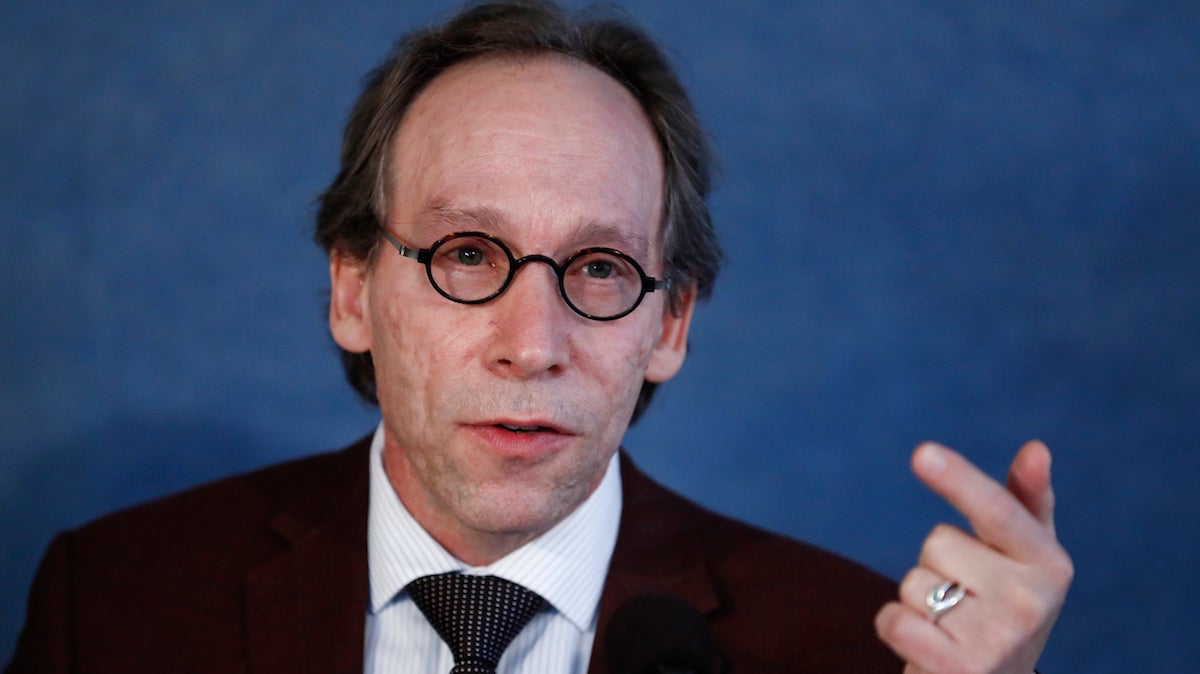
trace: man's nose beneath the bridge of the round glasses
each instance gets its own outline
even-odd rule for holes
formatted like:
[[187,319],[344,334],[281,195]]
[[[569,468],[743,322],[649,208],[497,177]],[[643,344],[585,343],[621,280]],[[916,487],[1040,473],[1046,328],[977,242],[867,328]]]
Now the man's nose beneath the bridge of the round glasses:
[[578,321],[548,264],[523,264],[504,294],[486,306],[494,329],[487,354],[493,372],[530,379],[570,363],[571,331]]

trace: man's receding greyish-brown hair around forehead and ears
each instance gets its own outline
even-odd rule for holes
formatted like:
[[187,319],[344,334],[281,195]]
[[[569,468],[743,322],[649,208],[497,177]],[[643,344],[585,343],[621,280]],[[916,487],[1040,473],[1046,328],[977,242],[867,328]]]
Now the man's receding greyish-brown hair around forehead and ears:
[[[664,264],[673,281],[672,307],[685,296],[706,299],[720,264],[706,198],[712,158],[691,102],[654,42],[620,18],[566,16],[552,4],[516,0],[479,5],[443,26],[415,32],[397,43],[371,74],[342,144],[341,170],[325,191],[317,217],[317,242],[330,254],[371,264],[382,249],[388,176],[395,167],[389,149],[416,96],[440,73],[488,56],[562,54],[622,83],[649,120],[664,155],[664,212],[659,236]],[[347,379],[360,396],[377,402],[370,353],[342,350]],[[647,381],[634,420],[654,393]]]

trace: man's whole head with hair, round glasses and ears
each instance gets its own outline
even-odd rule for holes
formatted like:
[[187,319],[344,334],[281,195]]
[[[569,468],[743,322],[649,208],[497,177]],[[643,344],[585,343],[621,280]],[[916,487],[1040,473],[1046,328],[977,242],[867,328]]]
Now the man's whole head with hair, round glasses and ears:
[[[407,42],[360,100],[322,207],[330,325],[344,353],[370,354],[389,479],[473,564],[595,488],[646,386],[682,366],[715,273],[703,142],[682,90],[640,36],[589,25],[505,5]],[[492,43],[505,48],[476,47]],[[480,234],[455,237],[467,231]],[[565,265],[581,251],[587,264]],[[476,290],[512,259],[527,263],[503,294]],[[643,277],[670,277],[674,295],[649,291],[614,320],[580,311],[620,313],[654,285]],[[623,278],[638,282],[613,300]]]

